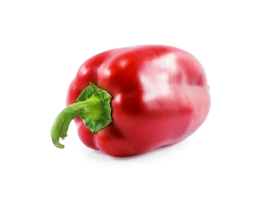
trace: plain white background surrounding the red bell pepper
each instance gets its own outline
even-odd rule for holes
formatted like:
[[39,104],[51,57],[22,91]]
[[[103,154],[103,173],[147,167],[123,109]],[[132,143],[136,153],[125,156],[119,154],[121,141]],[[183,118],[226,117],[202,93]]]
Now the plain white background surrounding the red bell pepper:
[[[0,213],[256,213],[253,0],[0,3]],[[189,51],[212,106],[187,140],[113,158],[50,129],[81,63],[141,44]]]

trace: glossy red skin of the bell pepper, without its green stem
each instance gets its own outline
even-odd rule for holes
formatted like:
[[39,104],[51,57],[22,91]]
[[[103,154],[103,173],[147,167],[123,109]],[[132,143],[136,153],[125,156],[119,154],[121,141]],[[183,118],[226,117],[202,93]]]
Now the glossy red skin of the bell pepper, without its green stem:
[[90,82],[111,94],[113,122],[93,135],[76,117],[78,134],[84,145],[114,157],[178,143],[201,126],[210,109],[204,68],[171,46],[133,46],[91,57],[70,84],[67,105]]

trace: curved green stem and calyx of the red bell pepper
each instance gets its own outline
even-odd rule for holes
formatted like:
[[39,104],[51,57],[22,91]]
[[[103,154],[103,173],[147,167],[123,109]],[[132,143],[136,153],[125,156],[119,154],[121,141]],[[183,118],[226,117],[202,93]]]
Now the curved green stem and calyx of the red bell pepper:
[[90,83],[81,92],[76,103],[67,106],[56,117],[51,130],[53,144],[58,148],[64,148],[64,145],[59,143],[59,138],[64,140],[67,137],[70,122],[75,117],[80,116],[92,134],[108,126],[112,122],[110,100],[111,95],[107,91]]

